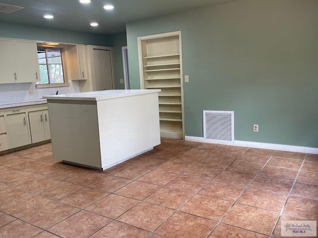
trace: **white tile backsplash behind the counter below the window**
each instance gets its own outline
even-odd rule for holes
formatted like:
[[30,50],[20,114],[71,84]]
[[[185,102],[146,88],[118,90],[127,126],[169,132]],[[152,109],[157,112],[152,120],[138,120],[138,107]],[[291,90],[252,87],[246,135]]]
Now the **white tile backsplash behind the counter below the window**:
[[[36,88],[36,83],[7,83],[0,84],[0,103],[17,102],[32,99],[40,99],[43,96],[59,94],[79,93],[79,82],[70,81],[68,87]],[[29,95],[29,90],[33,95]]]

